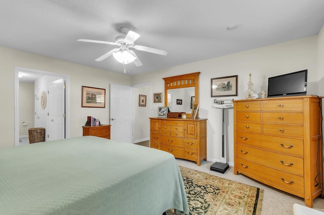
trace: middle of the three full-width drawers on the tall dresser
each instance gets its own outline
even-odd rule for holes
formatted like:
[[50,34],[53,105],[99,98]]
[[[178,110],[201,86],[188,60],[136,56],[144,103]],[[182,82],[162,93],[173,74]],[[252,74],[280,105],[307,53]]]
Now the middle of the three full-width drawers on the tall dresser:
[[252,162],[271,166],[271,168],[294,174],[304,174],[304,160],[300,157],[279,154],[267,150],[260,150],[253,147],[237,144],[237,157],[250,160]]

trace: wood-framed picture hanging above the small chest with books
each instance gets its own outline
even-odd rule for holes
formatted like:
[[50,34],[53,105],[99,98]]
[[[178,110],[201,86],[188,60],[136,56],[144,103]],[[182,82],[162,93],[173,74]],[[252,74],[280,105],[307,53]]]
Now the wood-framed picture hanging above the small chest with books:
[[82,86],[82,108],[105,108],[106,90]]

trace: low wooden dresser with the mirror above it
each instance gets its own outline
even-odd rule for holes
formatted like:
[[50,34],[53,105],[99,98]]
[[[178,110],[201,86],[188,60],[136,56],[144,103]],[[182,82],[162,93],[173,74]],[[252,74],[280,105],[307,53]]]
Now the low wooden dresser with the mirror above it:
[[150,147],[194,161],[207,159],[207,119],[150,118]]

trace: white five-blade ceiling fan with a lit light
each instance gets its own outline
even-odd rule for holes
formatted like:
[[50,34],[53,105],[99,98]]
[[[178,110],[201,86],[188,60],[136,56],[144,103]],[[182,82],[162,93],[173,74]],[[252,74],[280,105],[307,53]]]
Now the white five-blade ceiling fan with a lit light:
[[120,32],[123,33],[123,35],[119,35],[116,37],[115,42],[107,42],[107,41],[97,41],[97,40],[87,40],[87,39],[78,39],[77,41],[80,42],[89,42],[89,43],[102,43],[102,44],[109,44],[109,45],[116,45],[119,46],[119,48],[115,48],[107,52],[106,54],[98,57],[96,61],[102,61],[109,57],[110,55],[113,55],[114,58],[123,64],[128,64],[131,62],[134,62],[136,66],[143,65],[140,59],[137,57],[135,52],[133,50],[130,50],[130,48],[134,48],[136,50],[144,51],[144,52],[151,52],[155,54],[160,55],[167,55],[166,50],[162,49],[156,49],[151,48],[147,46],[140,46],[135,45],[134,42],[141,36],[140,34],[131,31],[128,27],[121,27]]

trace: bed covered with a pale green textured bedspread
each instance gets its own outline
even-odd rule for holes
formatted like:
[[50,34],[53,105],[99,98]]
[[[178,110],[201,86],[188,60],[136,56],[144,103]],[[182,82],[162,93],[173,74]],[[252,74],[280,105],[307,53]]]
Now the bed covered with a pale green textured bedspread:
[[189,214],[173,155],[83,136],[0,149],[0,213]]

